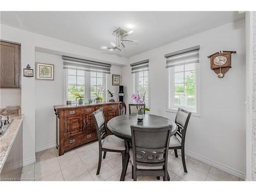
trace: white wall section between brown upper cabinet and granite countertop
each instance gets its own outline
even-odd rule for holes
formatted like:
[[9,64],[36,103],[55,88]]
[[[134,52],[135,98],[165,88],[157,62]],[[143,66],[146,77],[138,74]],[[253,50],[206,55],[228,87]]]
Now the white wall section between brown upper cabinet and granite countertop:
[[21,89],[0,89],[0,109],[22,104]]

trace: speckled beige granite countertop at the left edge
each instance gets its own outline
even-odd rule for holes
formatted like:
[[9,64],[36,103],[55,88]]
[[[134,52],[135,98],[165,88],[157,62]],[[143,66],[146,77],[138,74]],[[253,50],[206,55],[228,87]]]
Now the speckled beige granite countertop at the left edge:
[[5,134],[0,137],[0,173],[9,155],[12,144],[16,138],[20,125],[22,124],[24,115],[10,115],[12,123],[9,125]]

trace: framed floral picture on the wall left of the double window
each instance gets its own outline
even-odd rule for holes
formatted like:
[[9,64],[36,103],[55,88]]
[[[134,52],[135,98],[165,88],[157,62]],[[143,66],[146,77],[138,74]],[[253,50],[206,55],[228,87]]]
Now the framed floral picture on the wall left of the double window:
[[54,65],[47,63],[36,63],[36,79],[53,80]]

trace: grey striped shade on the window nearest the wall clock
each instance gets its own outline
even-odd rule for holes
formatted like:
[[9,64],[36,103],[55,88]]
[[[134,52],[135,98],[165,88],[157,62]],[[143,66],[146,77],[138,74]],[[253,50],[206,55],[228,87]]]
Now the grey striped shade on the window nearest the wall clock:
[[165,68],[181,66],[190,63],[199,63],[199,49],[200,46],[195,46],[188,49],[183,49],[181,51],[165,54]]

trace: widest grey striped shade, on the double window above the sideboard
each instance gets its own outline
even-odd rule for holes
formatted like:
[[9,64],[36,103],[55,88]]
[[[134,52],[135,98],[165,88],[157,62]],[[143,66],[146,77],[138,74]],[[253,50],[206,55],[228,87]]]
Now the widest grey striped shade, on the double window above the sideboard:
[[62,56],[63,69],[73,69],[81,71],[101,72],[110,74],[111,65],[108,63],[78,59],[74,57]]

